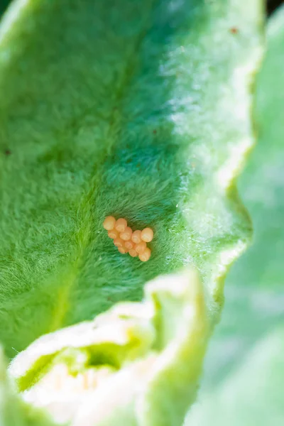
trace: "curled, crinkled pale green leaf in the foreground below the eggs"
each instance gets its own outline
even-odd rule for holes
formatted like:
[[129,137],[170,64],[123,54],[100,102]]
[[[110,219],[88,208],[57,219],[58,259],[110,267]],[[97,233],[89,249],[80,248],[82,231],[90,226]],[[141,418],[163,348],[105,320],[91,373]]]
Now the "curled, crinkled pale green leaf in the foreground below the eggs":
[[145,293],[18,354],[9,371],[24,400],[72,426],[181,425],[209,337],[204,290],[190,271]]

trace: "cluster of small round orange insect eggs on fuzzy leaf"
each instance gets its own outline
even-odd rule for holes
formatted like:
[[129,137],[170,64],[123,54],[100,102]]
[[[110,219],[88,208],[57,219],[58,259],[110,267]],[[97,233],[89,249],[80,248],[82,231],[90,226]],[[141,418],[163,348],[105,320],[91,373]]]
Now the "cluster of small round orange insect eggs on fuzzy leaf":
[[107,216],[103,223],[104,229],[107,230],[109,238],[114,240],[114,245],[119,253],[129,253],[131,257],[136,257],[147,262],[151,256],[151,250],[147,247],[147,243],[153,240],[153,230],[145,228],[142,231],[132,231],[127,226],[126,219],[122,217],[115,219],[113,216]]

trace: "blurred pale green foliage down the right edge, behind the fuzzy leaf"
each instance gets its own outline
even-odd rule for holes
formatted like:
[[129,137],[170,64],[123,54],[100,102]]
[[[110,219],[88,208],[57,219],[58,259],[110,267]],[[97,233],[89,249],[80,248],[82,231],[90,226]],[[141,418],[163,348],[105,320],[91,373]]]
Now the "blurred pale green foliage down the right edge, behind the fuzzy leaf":
[[284,8],[268,23],[256,85],[258,143],[239,181],[255,229],[253,245],[226,280],[200,401],[190,425],[284,423]]

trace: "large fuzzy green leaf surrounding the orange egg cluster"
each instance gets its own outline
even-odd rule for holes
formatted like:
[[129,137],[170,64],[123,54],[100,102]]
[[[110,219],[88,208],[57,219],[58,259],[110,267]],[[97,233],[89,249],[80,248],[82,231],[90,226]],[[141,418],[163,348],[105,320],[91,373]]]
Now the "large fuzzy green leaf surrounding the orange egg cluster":
[[[21,0],[0,30],[0,341],[139,300],[194,265],[214,323],[250,234],[234,176],[251,147],[261,0]],[[148,263],[102,221],[155,231]]]

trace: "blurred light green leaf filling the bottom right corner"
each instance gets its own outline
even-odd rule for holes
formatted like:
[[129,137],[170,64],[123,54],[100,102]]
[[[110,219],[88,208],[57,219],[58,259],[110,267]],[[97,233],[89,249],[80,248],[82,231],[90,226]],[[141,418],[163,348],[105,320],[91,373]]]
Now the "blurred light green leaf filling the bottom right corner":
[[203,393],[186,425],[282,425],[284,329],[259,341],[236,371]]

